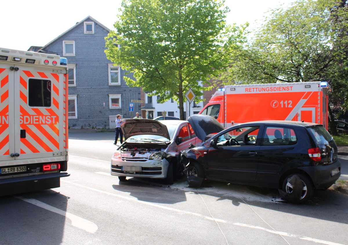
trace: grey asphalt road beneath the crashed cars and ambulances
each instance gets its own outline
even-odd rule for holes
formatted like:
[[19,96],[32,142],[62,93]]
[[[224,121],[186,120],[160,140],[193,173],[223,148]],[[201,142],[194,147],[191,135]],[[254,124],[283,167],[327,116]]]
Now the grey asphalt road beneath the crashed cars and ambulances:
[[[268,188],[187,187],[110,175],[114,133],[70,133],[70,177],[52,190],[0,197],[0,245],[348,244],[348,195],[317,191],[305,205]],[[342,177],[348,157],[341,158]]]

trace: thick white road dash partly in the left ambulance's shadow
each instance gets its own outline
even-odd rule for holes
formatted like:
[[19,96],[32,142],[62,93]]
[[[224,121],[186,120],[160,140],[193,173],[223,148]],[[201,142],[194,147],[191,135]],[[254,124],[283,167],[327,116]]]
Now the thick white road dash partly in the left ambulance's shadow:
[[71,213],[68,213],[66,211],[63,211],[63,210],[60,210],[60,209],[57,209],[56,207],[53,207],[53,206],[50,206],[46,203],[43,203],[43,202],[40,202],[38,200],[35,200],[35,199],[32,199],[32,198],[24,198],[24,197],[21,197],[21,196],[16,196],[16,198],[18,199],[21,199],[27,203],[31,203],[35,206],[38,206],[38,207],[41,207],[43,209],[46,209],[48,211],[51,211],[51,212],[54,212],[54,213],[57,213],[57,214],[60,214],[68,219],[71,220],[71,225],[74,226],[74,227],[77,227],[77,228],[80,228],[82,230],[85,230],[89,233],[94,233],[98,230],[98,226],[89,221],[89,220],[86,220],[86,219],[83,219],[81,217],[78,217],[74,214],[71,214]]

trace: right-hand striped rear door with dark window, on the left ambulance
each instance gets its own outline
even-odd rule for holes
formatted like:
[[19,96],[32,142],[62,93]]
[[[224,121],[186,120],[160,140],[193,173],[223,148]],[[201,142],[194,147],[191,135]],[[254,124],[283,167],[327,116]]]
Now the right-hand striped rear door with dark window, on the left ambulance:
[[52,67],[18,65],[14,84],[16,159],[64,153],[63,74]]

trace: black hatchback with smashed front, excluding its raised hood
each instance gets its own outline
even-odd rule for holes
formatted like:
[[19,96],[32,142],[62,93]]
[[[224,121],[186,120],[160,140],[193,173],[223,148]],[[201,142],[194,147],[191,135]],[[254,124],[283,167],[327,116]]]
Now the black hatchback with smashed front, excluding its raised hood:
[[190,185],[197,185],[197,178],[190,177],[198,177],[291,194],[291,177],[298,175],[303,183],[298,203],[303,203],[314,189],[327,189],[340,177],[337,153],[335,141],[321,124],[259,121],[206,137],[201,145],[182,153],[181,163]]

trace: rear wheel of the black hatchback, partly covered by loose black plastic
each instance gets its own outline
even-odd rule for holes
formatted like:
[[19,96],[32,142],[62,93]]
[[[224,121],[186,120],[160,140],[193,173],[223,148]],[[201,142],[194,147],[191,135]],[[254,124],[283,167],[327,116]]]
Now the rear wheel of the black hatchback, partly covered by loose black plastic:
[[[291,174],[288,177],[286,177],[283,181],[283,191],[286,193],[292,193],[293,186],[291,183],[288,182],[288,180],[295,174]],[[303,183],[303,188],[302,188],[302,193],[300,195],[300,199],[296,200],[297,203],[302,204],[307,202],[310,198],[312,198],[314,194],[314,187],[312,182],[308,179],[308,177],[304,174],[298,173],[297,174],[302,183]]]

